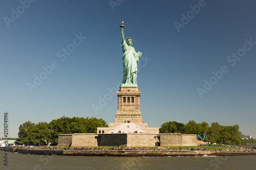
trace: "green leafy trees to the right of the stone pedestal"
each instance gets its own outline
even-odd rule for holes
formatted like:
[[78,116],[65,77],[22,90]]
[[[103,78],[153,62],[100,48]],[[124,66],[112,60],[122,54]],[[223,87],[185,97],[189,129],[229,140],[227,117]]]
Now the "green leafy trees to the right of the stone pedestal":
[[[239,126],[222,126],[217,122],[210,126],[206,122],[196,123],[190,120],[187,124],[178,122],[165,122],[159,129],[160,133],[182,133],[182,134],[196,134],[202,138],[207,133],[204,141],[211,143],[222,143],[232,145],[246,145],[248,140],[242,139],[244,135],[239,131]],[[201,139],[200,139],[201,140]]]

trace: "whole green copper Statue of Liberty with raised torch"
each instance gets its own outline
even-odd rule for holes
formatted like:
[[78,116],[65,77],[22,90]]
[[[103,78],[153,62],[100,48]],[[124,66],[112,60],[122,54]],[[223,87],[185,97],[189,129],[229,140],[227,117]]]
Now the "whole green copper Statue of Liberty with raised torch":
[[120,27],[122,34],[121,46],[123,49],[123,83],[120,86],[137,87],[137,63],[139,62],[142,53],[136,53],[135,48],[133,47],[133,38],[127,37],[125,41],[123,34],[123,22],[121,22]]

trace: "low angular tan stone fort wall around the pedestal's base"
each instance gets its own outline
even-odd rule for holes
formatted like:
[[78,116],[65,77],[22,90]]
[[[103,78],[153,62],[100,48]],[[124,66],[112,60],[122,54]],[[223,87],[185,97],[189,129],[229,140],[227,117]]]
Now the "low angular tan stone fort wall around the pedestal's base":
[[161,146],[197,146],[197,139],[194,134],[79,133],[59,135],[58,146],[69,146],[70,144],[72,147],[154,147],[156,144]]

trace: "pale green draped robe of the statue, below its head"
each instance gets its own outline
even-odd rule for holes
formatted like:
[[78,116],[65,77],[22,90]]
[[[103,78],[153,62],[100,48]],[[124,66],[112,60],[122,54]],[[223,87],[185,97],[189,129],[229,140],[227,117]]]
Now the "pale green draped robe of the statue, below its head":
[[121,43],[121,46],[123,48],[123,84],[137,84],[139,55],[135,48],[127,45],[125,41]]

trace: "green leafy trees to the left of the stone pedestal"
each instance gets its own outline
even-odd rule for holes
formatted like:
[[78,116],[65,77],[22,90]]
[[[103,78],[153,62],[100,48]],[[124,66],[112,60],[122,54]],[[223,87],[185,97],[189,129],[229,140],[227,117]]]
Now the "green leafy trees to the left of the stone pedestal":
[[18,141],[25,145],[47,145],[58,143],[59,134],[97,133],[98,127],[109,127],[105,120],[96,117],[61,117],[38,124],[30,121],[19,126]]

